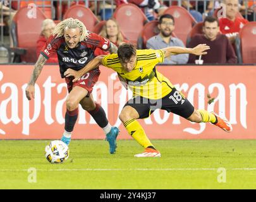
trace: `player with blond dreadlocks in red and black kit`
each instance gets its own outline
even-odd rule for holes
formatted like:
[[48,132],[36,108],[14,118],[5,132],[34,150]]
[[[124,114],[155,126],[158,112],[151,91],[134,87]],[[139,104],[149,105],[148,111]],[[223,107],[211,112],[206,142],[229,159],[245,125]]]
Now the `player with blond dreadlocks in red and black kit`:
[[[47,59],[52,54],[58,54],[59,70],[61,78],[65,78],[64,72],[71,68],[76,71],[82,69],[86,64],[94,59],[94,50],[101,48],[116,52],[117,47],[109,40],[95,33],[87,31],[85,25],[77,19],[68,18],[61,21],[55,28],[46,45],[40,52],[40,56],[35,64],[34,71],[26,88],[26,96],[28,100],[35,97],[35,81],[39,77],[40,72]],[[119,129],[112,127],[107,120],[106,113],[101,105],[94,102],[92,97],[92,88],[99,78],[99,68],[96,68],[82,76],[76,82],[73,77],[65,78],[68,88],[68,98],[66,100],[66,114],[63,137],[61,138],[67,145],[71,140],[71,133],[78,117],[78,104],[87,110],[95,119],[97,124],[106,133],[106,139],[109,142],[109,151],[116,151],[116,137]]]

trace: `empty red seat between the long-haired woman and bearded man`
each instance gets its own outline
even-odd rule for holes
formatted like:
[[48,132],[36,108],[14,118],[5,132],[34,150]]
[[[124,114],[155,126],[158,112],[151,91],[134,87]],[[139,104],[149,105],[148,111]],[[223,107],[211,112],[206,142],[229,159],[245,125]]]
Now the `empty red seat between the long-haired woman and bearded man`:
[[118,21],[121,32],[132,43],[137,44],[143,25],[147,23],[147,17],[135,4],[121,4],[113,17]]

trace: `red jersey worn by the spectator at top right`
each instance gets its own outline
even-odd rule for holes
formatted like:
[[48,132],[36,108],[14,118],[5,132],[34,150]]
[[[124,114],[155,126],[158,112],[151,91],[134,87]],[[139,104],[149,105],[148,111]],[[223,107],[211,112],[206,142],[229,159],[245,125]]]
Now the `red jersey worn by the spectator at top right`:
[[248,23],[248,20],[244,18],[236,18],[235,21],[231,21],[228,18],[221,18],[219,20],[219,29],[227,37],[231,37],[237,35],[246,23]]

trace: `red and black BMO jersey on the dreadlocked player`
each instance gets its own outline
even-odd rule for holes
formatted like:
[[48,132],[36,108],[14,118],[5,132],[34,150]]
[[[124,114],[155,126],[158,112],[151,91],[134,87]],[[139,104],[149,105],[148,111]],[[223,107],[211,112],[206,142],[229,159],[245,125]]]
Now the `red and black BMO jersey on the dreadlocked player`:
[[51,36],[40,53],[46,59],[57,53],[61,77],[64,78],[66,69],[71,68],[78,71],[94,59],[94,50],[96,48],[108,50],[110,46],[109,40],[96,33],[89,33],[88,39],[78,43],[78,46],[73,49],[66,45],[64,37],[55,38],[55,36]]

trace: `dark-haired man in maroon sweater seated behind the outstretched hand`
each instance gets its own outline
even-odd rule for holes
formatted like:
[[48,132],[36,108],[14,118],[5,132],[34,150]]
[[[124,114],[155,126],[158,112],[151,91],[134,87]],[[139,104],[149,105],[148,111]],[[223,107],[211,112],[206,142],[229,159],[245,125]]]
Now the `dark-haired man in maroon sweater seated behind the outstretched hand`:
[[[207,16],[204,20],[203,31],[204,34],[195,35],[192,38],[188,47],[194,47],[198,44],[207,44],[210,46],[210,51],[202,56],[204,64],[237,62],[235,51],[228,38],[223,34],[219,34],[219,21],[216,18]],[[195,64],[196,59],[198,59],[197,56],[190,54],[188,63]]]

